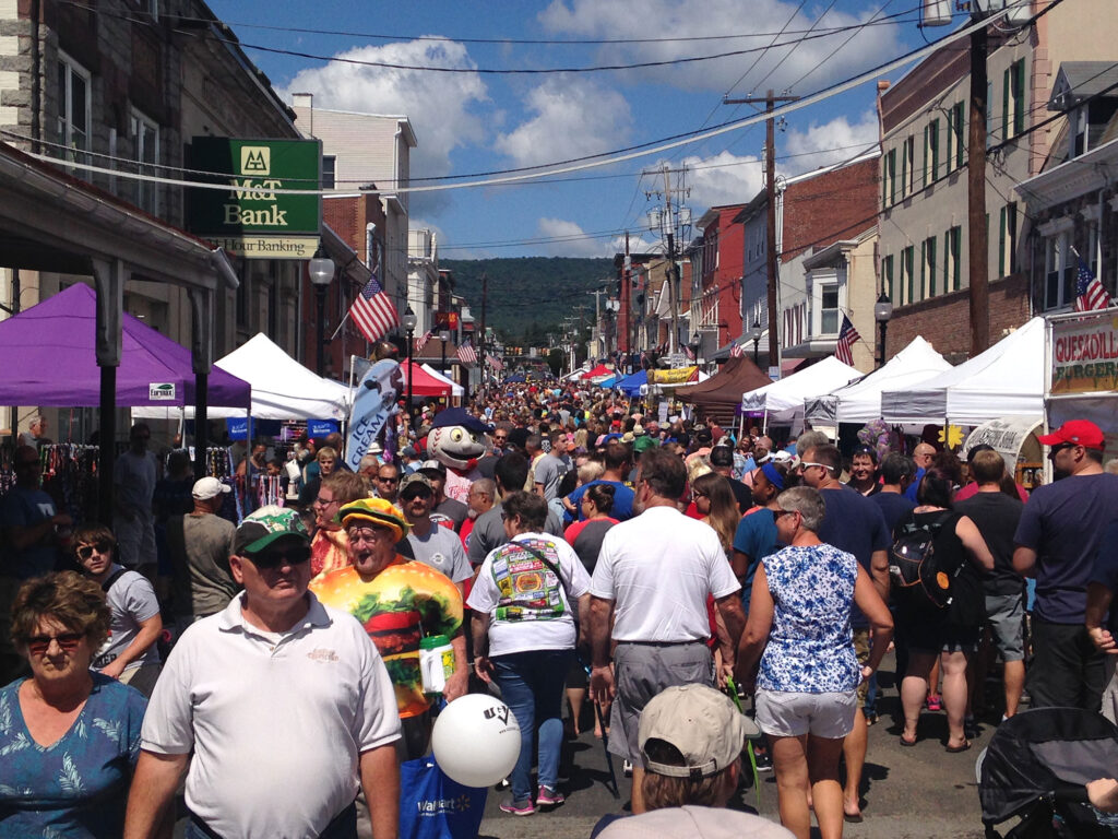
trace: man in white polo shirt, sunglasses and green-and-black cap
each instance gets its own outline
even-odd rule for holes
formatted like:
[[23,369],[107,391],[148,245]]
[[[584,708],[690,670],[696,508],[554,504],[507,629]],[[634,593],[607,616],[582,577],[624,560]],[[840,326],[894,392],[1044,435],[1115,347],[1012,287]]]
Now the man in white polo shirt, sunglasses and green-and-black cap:
[[245,592],[168,659],[124,836],[158,833],[189,763],[187,839],[352,837],[359,785],[375,839],[395,839],[400,722],[380,654],[354,618],[307,592],[310,537],[293,510],[262,507],[233,552]]

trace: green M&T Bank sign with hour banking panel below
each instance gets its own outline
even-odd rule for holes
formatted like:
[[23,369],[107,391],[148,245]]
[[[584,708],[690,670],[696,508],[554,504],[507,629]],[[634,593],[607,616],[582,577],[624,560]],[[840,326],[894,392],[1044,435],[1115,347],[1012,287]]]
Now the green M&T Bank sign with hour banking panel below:
[[322,145],[318,140],[233,140],[196,136],[190,168],[202,183],[190,189],[187,228],[239,256],[306,260],[319,244],[322,198],[282,190],[318,189]]

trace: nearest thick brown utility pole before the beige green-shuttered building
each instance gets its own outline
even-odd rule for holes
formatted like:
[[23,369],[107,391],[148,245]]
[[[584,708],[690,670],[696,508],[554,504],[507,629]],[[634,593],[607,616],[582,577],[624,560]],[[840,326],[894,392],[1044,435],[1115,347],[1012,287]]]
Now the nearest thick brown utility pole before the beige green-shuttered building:
[[967,256],[970,263],[970,357],[989,347],[989,230],[986,225],[986,27],[970,32],[970,125],[967,132]]

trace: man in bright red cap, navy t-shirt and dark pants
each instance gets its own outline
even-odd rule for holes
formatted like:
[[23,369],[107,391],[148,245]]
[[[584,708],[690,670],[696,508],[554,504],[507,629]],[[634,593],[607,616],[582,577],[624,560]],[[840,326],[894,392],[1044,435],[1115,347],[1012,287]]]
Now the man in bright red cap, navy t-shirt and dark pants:
[[[1098,711],[1103,653],[1089,638],[1087,585],[1107,527],[1118,511],[1118,475],[1102,469],[1106,439],[1087,420],[1069,420],[1038,440],[1050,446],[1053,483],[1033,490],[1013,535],[1013,568],[1036,577],[1033,661],[1025,687],[1034,708]],[[1093,615],[1093,623],[1100,614]]]

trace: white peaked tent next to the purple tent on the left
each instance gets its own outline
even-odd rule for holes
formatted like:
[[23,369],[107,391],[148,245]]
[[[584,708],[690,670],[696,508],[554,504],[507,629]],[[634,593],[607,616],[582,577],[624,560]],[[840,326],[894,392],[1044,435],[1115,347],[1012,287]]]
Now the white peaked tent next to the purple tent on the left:
[[[253,386],[256,420],[344,420],[349,416],[350,389],[338,381],[316,376],[258,332],[225,358],[217,361]],[[234,373],[237,370],[237,373]],[[134,408],[134,417],[168,418],[167,408]],[[186,409],[192,417],[193,408]],[[244,416],[244,408],[210,408],[211,420]],[[174,411],[177,418],[179,412]]]

